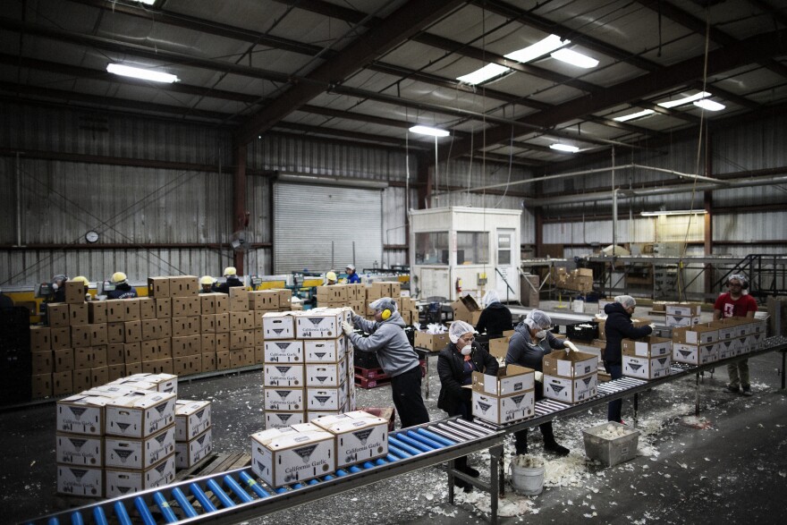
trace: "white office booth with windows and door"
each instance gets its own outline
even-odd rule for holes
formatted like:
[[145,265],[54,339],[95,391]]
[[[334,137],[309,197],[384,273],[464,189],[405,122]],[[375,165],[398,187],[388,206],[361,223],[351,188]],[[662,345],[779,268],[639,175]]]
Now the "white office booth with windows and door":
[[410,291],[451,301],[470,293],[480,301],[496,290],[501,301],[519,301],[521,214],[478,207],[410,210]]

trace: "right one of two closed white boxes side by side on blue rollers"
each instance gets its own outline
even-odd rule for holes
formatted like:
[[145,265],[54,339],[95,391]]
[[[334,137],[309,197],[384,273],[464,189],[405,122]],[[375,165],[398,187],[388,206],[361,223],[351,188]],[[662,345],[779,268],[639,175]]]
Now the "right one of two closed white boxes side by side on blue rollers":
[[368,412],[351,411],[311,422],[334,435],[337,469],[385,457],[388,453],[388,421]]

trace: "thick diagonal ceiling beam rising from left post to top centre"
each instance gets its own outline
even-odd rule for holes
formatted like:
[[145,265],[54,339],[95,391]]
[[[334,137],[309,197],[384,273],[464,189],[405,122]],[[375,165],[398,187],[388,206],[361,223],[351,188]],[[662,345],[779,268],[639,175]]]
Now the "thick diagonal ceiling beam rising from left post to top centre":
[[421,2],[410,0],[385,19],[377,30],[368,31],[357,38],[339,54],[326,60],[307,75],[309,83],[297,83],[285,91],[275,104],[268,106],[241,125],[236,133],[239,142],[249,142],[259,132],[270,129],[309,100],[320,95],[324,89],[319,84],[333,85],[341,82],[352,72],[363,68],[377,56],[410,38],[417,31],[451,13],[463,4],[461,0],[444,2]]

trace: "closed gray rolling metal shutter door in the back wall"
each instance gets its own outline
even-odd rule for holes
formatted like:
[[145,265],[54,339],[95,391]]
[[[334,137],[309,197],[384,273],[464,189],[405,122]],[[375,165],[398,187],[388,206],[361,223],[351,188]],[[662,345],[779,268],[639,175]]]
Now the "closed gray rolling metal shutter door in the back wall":
[[[332,245],[333,241],[333,262]],[[382,191],[313,184],[274,184],[274,273],[340,272],[383,260]]]

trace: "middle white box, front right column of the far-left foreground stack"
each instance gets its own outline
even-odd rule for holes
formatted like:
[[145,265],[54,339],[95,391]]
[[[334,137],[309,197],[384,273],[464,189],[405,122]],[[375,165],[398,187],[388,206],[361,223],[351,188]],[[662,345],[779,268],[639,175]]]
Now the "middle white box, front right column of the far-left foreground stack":
[[140,439],[106,436],[104,443],[107,469],[144,470],[175,452],[175,427],[170,425]]

